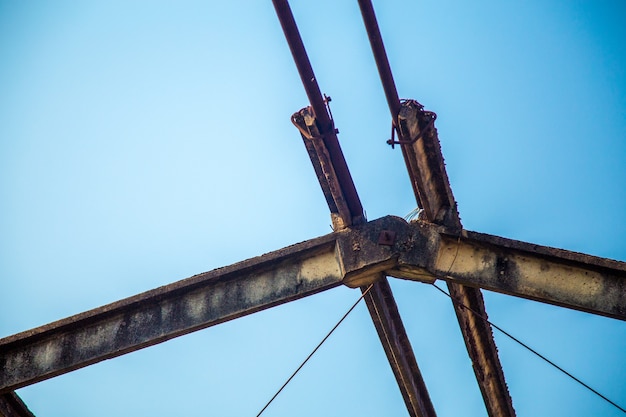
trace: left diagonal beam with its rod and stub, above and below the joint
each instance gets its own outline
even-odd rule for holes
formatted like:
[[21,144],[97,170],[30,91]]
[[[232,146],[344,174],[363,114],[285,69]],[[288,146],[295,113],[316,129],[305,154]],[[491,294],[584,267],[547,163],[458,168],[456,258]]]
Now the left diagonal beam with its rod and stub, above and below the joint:
[[[333,227],[340,230],[363,223],[365,214],[361,200],[339,147],[337,130],[326,111],[289,3],[287,0],[273,0],[273,3],[311,103],[310,108],[294,114],[292,122],[302,134],[331,211]],[[356,252],[356,249],[352,249],[352,252]],[[415,417],[434,416],[430,396],[386,279],[374,283],[366,296],[366,302],[409,413]],[[393,337],[390,339],[385,335]]]

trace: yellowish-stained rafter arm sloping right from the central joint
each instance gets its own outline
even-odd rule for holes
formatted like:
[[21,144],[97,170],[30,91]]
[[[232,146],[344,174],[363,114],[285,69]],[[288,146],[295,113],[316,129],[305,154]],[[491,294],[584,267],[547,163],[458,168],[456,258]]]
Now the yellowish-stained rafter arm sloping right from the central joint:
[[626,320],[626,263],[482,233],[443,236],[434,274]]

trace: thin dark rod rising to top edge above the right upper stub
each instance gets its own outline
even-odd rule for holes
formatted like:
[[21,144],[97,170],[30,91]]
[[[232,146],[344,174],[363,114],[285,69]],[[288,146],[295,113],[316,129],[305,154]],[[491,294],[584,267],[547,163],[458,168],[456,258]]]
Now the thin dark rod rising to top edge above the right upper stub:
[[391,112],[391,119],[395,123],[398,112],[400,111],[400,98],[398,97],[396,83],[393,80],[393,74],[391,73],[391,67],[389,66],[389,59],[387,58],[383,38],[380,34],[380,28],[378,27],[378,22],[376,21],[374,7],[372,6],[372,2],[370,0],[358,1],[359,7],[361,8],[361,15],[363,16],[363,22],[365,23],[365,29],[367,30],[367,36],[370,40],[370,46],[372,47],[374,59],[376,60],[376,66],[378,67],[378,74],[380,75],[380,80],[383,83],[385,97],[387,97],[387,104],[389,105],[389,111]]

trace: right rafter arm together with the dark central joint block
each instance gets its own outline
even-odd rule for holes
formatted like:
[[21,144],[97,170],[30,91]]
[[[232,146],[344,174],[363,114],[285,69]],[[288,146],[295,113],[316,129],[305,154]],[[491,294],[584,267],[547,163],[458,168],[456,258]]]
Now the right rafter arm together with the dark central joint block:
[[[368,273],[383,271],[396,278],[427,283],[442,279],[626,320],[626,262],[467,230],[457,233],[394,216],[353,229],[350,236],[359,250],[338,252],[349,271],[344,279],[348,286],[364,285],[360,280]],[[467,306],[473,309],[468,296],[457,295],[470,300]]]

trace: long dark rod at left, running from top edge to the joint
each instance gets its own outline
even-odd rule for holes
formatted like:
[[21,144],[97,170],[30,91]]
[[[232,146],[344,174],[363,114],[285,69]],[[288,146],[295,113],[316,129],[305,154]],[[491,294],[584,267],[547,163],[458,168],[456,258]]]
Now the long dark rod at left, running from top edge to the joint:
[[343,152],[339,146],[335,126],[326,110],[324,98],[317,84],[317,79],[313,73],[309,57],[304,49],[304,43],[302,42],[300,32],[293,18],[289,2],[287,0],[273,0],[273,4],[296,67],[298,68],[300,79],[302,80],[307,97],[309,98],[309,103],[311,104],[313,115],[315,116],[315,123],[319,131],[319,137],[323,140],[328,150],[337,182],[341,184],[342,195],[352,215],[351,221],[346,224],[346,226],[363,223],[365,221],[365,215],[363,213],[361,200],[359,199],[356,187],[352,181],[352,175],[348,170],[348,165],[346,164]]

